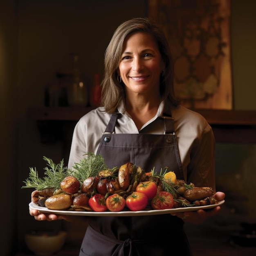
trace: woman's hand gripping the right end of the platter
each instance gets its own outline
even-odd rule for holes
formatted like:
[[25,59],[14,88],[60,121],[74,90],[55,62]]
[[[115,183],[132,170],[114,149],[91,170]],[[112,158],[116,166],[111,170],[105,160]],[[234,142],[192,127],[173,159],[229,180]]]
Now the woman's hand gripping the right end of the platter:
[[[221,201],[225,198],[225,193],[216,192],[216,194],[213,195],[213,197],[217,201]],[[207,217],[211,217],[211,216],[217,214],[219,211],[220,211],[220,206],[217,206],[217,207],[214,207],[207,211],[200,209],[198,211],[185,211],[185,212],[179,212],[179,213],[171,213],[171,215],[181,218],[184,222],[191,222],[191,223],[199,224],[199,223],[204,222],[204,220]]]

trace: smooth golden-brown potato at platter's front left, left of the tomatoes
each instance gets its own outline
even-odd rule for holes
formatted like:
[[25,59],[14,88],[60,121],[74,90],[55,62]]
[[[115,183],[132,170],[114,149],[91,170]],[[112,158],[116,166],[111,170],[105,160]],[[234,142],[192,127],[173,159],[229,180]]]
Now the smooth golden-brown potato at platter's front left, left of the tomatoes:
[[72,204],[72,196],[68,194],[53,195],[45,200],[45,207],[50,210],[66,210]]

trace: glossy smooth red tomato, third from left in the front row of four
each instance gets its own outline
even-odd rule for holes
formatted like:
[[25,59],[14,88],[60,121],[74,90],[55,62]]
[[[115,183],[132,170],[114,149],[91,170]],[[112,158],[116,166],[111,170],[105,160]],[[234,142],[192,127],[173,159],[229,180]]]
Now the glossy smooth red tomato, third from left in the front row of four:
[[144,210],[147,204],[148,198],[144,193],[132,192],[132,194],[128,195],[128,197],[126,198],[126,206],[131,211]]

